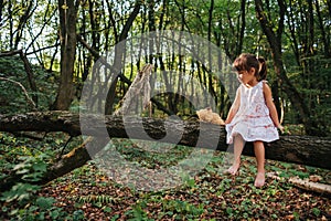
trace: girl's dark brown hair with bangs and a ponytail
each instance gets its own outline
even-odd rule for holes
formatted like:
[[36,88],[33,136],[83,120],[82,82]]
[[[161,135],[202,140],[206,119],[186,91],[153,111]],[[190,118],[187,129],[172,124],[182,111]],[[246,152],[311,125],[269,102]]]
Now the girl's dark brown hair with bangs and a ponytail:
[[239,71],[249,71],[255,69],[255,76],[257,81],[266,80],[267,77],[267,64],[266,60],[261,56],[256,57],[254,54],[241,54],[233,63],[233,66]]

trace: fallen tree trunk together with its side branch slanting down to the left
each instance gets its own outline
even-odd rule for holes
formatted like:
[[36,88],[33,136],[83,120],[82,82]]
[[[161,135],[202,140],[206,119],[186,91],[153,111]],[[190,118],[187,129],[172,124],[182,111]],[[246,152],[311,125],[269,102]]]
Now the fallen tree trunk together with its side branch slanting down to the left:
[[[196,120],[156,119],[122,116],[78,115],[68,112],[36,112],[13,116],[0,115],[0,131],[63,131],[75,137],[90,136],[85,144],[55,160],[39,185],[47,183],[78,167],[102,150],[113,138],[159,140],[170,144],[226,151],[224,126]],[[170,138],[168,134],[170,134]],[[174,137],[178,137],[175,139]],[[164,138],[166,137],[166,138]],[[168,139],[167,139],[168,137]],[[90,144],[89,144],[90,143]],[[252,144],[246,143],[246,156],[254,156]],[[281,136],[266,145],[266,158],[331,169],[331,138]],[[17,175],[0,181],[0,191],[10,189],[21,178]]]

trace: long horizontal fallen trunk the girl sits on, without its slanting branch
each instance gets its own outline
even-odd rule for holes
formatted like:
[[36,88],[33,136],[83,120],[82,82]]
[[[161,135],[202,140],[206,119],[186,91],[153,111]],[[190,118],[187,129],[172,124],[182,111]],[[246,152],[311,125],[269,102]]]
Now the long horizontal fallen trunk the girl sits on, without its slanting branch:
[[[81,119],[84,125],[81,125]],[[168,139],[174,143],[200,148],[212,148],[226,151],[224,126],[201,123],[199,120],[156,119],[121,116],[79,115],[68,112],[36,112],[13,116],[0,117],[0,131],[64,131],[70,136],[105,136],[104,128],[109,137],[161,140],[167,135],[164,124],[171,128],[170,133],[182,134],[180,140]],[[141,136],[141,122],[148,136]],[[82,128],[81,128],[82,127]],[[182,130],[181,130],[182,129]],[[203,139],[199,140],[200,135]],[[216,140],[216,147],[215,147]],[[247,143],[244,155],[253,156],[252,144]],[[302,164],[331,169],[331,138],[311,136],[280,136],[280,139],[266,144],[266,158],[279,161]]]

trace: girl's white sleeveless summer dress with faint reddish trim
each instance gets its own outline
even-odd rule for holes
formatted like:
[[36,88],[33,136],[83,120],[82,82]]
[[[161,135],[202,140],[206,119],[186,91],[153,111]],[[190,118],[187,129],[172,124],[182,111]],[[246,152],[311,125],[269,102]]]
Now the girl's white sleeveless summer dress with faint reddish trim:
[[241,134],[245,141],[274,141],[279,139],[269,109],[266,105],[263,87],[265,81],[260,81],[254,87],[241,85],[241,106],[234,118],[226,125],[227,144],[233,143],[235,135]]

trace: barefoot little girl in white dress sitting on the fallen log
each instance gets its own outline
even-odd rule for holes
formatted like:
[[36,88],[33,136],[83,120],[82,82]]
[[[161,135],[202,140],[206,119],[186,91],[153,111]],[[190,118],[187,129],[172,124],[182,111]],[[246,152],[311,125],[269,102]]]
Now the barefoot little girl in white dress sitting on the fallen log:
[[237,88],[235,101],[225,120],[227,144],[234,144],[234,161],[227,172],[236,175],[245,141],[253,141],[257,161],[254,185],[263,187],[265,185],[264,141],[279,139],[277,128],[282,131],[284,127],[278,120],[271,90],[265,81],[266,61],[245,53],[234,61],[233,66],[242,84]]

